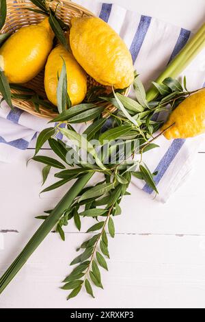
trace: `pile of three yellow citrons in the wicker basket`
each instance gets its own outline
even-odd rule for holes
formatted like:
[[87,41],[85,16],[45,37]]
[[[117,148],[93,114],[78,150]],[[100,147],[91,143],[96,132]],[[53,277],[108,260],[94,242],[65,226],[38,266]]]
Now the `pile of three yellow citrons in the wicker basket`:
[[72,106],[85,98],[86,74],[114,88],[126,88],[133,82],[131,53],[120,36],[100,18],[72,18],[70,32],[66,34],[72,52],[59,44],[53,48],[54,36],[49,18],[45,18],[38,25],[22,27],[6,40],[0,49],[0,68],[8,82],[27,83],[45,67],[45,92],[55,106],[63,62]]

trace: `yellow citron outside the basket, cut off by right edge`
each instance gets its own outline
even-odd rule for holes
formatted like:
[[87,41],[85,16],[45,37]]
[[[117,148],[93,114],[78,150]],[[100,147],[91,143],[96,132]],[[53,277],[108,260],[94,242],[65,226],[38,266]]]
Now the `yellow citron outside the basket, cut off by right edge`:
[[164,136],[168,140],[191,138],[205,133],[205,88],[180,103],[163,125],[162,130],[165,129]]

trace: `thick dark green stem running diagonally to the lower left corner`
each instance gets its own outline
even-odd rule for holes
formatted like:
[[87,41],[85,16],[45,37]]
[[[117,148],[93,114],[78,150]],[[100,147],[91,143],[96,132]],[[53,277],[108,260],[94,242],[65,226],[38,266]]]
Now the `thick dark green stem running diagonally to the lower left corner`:
[[6,286],[12,281],[14,276],[18,273],[18,271],[23,267],[25,262],[29,259],[33,251],[42,243],[42,240],[51,232],[53,227],[56,225],[57,221],[59,221],[61,215],[64,211],[72,205],[74,199],[79,195],[85,184],[90,180],[93,173],[87,173],[83,177],[77,180],[74,183],[72,188],[68,190],[68,193],[59,201],[55,209],[51,212],[48,218],[40,225],[36,234],[29,240],[29,243],[25,246],[23,251],[18,255],[16,260],[12,263],[12,265],[8,268],[8,270],[3,274],[0,279],[0,294],[3,292]]

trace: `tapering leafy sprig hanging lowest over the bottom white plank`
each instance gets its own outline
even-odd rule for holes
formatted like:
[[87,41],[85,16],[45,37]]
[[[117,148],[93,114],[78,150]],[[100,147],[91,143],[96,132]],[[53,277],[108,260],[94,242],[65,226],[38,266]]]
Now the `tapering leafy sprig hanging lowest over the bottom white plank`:
[[[128,182],[126,182],[126,186],[118,184],[118,186],[111,190],[109,196],[101,196],[97,201],[92,201],[88,207],[90,209],[80,213],[80,215],[93,216],[96,219],[98,216],[106,216],[106,219],[105,221],[99,221],[92,225],[92,227],[87,230],[87,233],[99,230],[100,232],[86,240],[81,244],[81,247],[77,249],[85,249],[85,251],[72,260],[70,265],[79,265],[66,277],[64,280],[64,283],[66,284],[61,287],[64,290],[72,290],[70,295],[68,295],[68,299],[77,296],[83,286],[85,286],[85,290],[92,297],[94,297],[92,284],[99,288],[103,288],[99,266],[108,271],[107,262],[105,260],[105,257],[109,258],[106,229],[108,228],[110,236],[114,238],[115,226],[112,216],[121,214],[119,203],[122,196],[126,194],[127,186]],[[104,203],[107,203],[105,209],[91,208],[98,205],[102,206]],[[86,205],[87,204],[88,203],[86,203]]]

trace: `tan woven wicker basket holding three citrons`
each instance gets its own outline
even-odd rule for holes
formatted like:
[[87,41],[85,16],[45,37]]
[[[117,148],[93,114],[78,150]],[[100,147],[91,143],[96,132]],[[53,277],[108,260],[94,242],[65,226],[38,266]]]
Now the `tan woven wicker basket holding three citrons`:
[[[36,6],[29,0],[8,0],[6,2],[8,6],[8,14],[5,25],[1,29],[1,34],[4,34],[5,32],[16,32],[20,27],[37,24],[44,19],[44,15],[42,14],[25,10],[25,8],[36,8]],[[50,6],[53,10],[57,7],[57,17],[61,18],[61,20],[67,25],[70,25],[70,19],[73,16],[94,16],[92,12],[76,3],[72,3],[70,0],[51,1]],[[91,88],[96,85],[98,85],[96,84],[96,81],[87,75],[87,88]],[[25,84],[25,86],[32,88],[46,99],[46,93],[44,92],[44,71],[39,73],[31,82]],[[106,90],[110,92],[111,88],[107,87]],[[12,90],[12,92],[19,93],[18,90]],[[128,90],[124,92],[124,95],[128,95]],[[12,99],[12,103],[21,110],[25,110],[30,114],[40,117],[53,118],[58,114],[57,111],[54,112],[53,110],[46,109],[43,106],[40,106],[40,112],[37,112],[32,102],[23,101],[22,99]],[[110,103],[107,103],[106,109],[110,112],[115,110]]]

